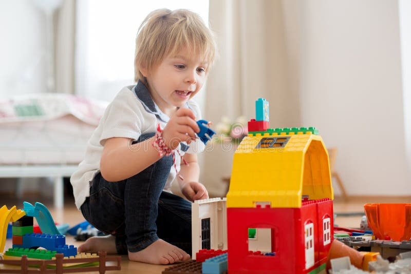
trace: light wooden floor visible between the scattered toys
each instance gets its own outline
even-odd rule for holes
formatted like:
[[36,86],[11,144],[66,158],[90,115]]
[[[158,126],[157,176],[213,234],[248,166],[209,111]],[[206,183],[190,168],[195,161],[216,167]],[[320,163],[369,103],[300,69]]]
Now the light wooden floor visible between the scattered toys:
[[[8,208],[11,206],[16,205],[17,208],[23,207],[23,200],[18,200],[14,198],[10,198],[10,196],[4,197],[0,196],[0,201],[4,201],[4,204],[7,205]],[[44,198],[39,197],[31,197],[26,198],[24,201],[34,203],[34,202],[42,202],[44,203],[48,209],[50,210],[53,219],[55,222],[58,223],[68,223],[70,226],[76,225],[80,222],[83,222],[83,216],[80,211],[74,206],[74,201],[70,198],[66,198],[64,209],[57,210],[54,209],[52,206],[52,201],[47,200]],[[342,227],[359,227],[361,221],[361,214],[357,214],[357,216],[339,216],[339,213],[347,213],[347,212],[358,212],[361,213],[364,211],[363,205],[366,203],[410,203],[411,197],[391,197],[391,198],[382,198],[382,197],[357,197],[351,198],[350,201],[342,201],[339,198],[334,200],[334,213],[337,213],[337,219],[335,220],[335,224],[342,226]],[[2,205],[0,205],[2,206]],[[77,242],[73,239],[72,236],[67,236],[66,242],[68,244],[73,244],[74,246],[79,246],[81,242]],[[6,242],[5,250],[10,248],[12,245],[11,239],[8,239]],[[0,266],[2,268],[3,266]],[[161,265],[151,265],[145,263],[138,263],[138,262],[131,262],[128,261],[126,256],[122,257],[121,262],[121,273],[146,273],[146,274],[158,274],[164,270],[167,266]],[[96,272],[91,272],[96,273]],[[120,273],[120,271],[109,271],[107,273]]]

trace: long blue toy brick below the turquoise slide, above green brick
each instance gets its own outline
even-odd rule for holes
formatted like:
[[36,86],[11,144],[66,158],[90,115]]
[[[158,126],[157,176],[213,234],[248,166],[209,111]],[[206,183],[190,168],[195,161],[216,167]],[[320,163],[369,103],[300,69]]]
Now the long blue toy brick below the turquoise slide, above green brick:
[[66,237],[61,234],[30,233],[23,236],[23,247],[43,247],[47,250],[55,250],[58,246],[66,244]]

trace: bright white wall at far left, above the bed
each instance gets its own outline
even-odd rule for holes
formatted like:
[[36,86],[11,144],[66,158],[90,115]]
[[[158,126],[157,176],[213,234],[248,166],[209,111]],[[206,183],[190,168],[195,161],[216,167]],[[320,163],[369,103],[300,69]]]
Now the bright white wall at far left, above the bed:
[[45,91],[45,23],[30,0],[0,1],[0,99]]

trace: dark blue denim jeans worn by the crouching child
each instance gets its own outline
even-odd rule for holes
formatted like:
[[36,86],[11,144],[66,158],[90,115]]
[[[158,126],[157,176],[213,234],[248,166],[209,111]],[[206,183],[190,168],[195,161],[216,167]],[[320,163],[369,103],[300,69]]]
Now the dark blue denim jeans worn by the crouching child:
[[[143,134],[137,142],[153,135]],[[159,238],[191,254],[191,203],[162,191],[172,165],[172,156],[164,156],[123,181],[108,182],[101,173],[93,179],[81,212],[115,236],[119,254],[143,250]]]

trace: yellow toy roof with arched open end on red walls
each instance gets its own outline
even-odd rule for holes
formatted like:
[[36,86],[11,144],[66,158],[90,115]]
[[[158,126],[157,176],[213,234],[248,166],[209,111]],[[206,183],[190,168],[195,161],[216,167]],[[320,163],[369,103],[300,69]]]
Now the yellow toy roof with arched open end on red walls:
[[[263,133],[264,134],[264,133]],[[301,207],[333,199],[328,152],[320,135],[290,132],[246,136],[235,151],[227,207]]]

